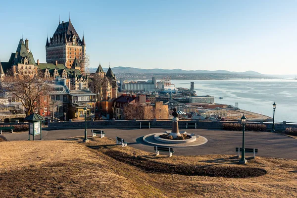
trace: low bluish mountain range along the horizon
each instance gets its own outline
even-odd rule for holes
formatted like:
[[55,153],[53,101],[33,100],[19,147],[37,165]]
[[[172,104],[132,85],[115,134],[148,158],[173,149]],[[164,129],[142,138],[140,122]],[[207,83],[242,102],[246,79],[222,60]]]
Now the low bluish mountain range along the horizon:
[[[165,74],[241,74],[241,75],[253,75],[253,76],[263,76],[259,72],[255,71],[246,71],[246,72],[234,72],[227,70],[216,70],[216,71],[208,71],[208,70],[183,70],[183,69],[140,69],[134,67],[112,67],[112,72],[114,74],[117,73],[165,73]],[[90,72],[96,72],[97,68],[90,68]],[[103,68],[105,72],[107,72],[108,68]]]

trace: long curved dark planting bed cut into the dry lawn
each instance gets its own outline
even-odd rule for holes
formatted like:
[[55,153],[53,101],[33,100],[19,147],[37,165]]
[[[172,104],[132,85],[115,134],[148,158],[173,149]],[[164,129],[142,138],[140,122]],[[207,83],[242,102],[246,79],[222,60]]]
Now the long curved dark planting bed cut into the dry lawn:
[[[225,178],[250,178],[265,175],[264,169],[238,166],[238,160],[235,163],[229,163],[228,166],[221,166],[226,163],[215,163],[206,166],[186,165],[186,164],[170,164],[157,162],[152,159],[167,158],[156,157],[154,155],[134,156],[117,150],[105,150],[104,154],[129,165],[136,166],[149,172],[158,172],[166,174],[179,174],[188,176],[209,176],[209,177],[225,177]],[[154,156],[154,157],[153,157]]]

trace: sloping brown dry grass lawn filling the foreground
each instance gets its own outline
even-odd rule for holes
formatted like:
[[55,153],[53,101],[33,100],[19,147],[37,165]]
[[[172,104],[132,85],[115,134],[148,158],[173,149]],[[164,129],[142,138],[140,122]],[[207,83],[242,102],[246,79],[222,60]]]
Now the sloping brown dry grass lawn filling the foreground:
[[156,157],[107,138],[0,142],[0,150],[1,198],[297,197],[297,160]]

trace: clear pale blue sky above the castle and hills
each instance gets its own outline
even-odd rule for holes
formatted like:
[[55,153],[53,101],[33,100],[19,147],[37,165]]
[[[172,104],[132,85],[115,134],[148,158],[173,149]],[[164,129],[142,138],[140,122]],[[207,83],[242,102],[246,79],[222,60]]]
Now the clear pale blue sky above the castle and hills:
[[297,74],[297,0],[1,1],[0,59],[19,38],[46,62],[46,39],[71,22],[90,66]]

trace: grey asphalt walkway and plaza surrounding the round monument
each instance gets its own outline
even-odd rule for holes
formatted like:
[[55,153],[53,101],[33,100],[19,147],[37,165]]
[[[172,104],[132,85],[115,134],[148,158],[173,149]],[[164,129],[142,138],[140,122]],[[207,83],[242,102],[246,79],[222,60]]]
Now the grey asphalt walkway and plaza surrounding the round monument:
[[[128,146],[154,152],[152,145],[143,141],[143,136],[151,133],[160,133],[168,129],[102,129],[106,137],[115,139],[116,136],[125,139]],[[91,129],[88,129],[91,136]],[[242,146],[242,132],[188,129],[187,133],[195,133],[207,138],[204,145],[195,147],[174,148],[174,155],[204,155],[204,154],[234,154],[236,147]],[[60,140],[76,136],[83,136],[84,129],[69,130],[43,130],[44,140]],[[28,140],[28,132],[3,133],[8,141]],[[246,132],[246,148],[258,148],[256,156],[297,159],[297,139],[269,132]],[[39,139],[36,136],[36,139]],[[91,137],[90,137],[91,138]],[[32,136],[31,136],[32,139]],[[246,154],[252,156],[252,154]]]

